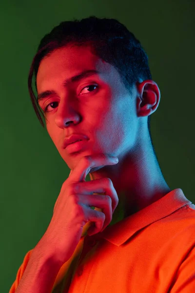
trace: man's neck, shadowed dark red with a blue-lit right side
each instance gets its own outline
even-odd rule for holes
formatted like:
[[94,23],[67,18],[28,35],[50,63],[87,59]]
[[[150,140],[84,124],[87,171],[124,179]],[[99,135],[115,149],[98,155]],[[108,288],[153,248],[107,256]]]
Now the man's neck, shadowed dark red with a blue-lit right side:
[[110,225],[146,208],[171,191],[163,178],[152,143],[148,149],[139,147],[134,154],[121,155],[118,159],[117,165],[90,173],[91,180],[110,178],[117,191],[119,202]]

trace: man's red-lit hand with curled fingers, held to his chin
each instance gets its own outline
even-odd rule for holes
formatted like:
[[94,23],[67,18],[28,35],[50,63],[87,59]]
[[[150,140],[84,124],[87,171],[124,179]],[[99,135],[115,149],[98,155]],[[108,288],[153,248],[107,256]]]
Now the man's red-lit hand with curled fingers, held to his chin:
[[[102,231],[112,221],[118,196],[111,179],[101,178],[86,182],[85,178],[94,167],[114,164],[117,162],[105,154],[82,157],[62,184],[51,222],[39,241],[39,248],[41,246],[47,250],[61,265],[72,256],[83,226],[88,221],[95,223],[88,229],[88,235]],[[92,206],[102,209],[102,212],[91,209]]]

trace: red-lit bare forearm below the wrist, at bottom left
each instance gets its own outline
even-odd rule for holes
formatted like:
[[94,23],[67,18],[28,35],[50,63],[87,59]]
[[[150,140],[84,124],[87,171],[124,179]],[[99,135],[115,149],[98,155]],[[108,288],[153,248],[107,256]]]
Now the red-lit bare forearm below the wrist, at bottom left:
[[51,293],[60,266],[50,257],[33,251],[15,293]]

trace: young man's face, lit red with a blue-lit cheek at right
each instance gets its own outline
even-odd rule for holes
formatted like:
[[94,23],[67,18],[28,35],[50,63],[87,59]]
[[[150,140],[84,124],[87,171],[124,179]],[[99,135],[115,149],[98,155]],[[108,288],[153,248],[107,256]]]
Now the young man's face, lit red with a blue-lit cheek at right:
[[[65,79],[84,70],[99,73],[63,86]],[[38,94],[56,92],[39,105],[44,109],[54,103],[45,113],[46,127],[69,168],[73,169],[83,156],[105,153],[119,157],[134,147],[138,126],[136,86],[130,96],[115,67],[93,55],[90,47],[64,47],[51,53],[39,65],[37,88]],[[63,148],[63,141],[74,133],[82,133],[89,140],[81,150],[70,153]]]

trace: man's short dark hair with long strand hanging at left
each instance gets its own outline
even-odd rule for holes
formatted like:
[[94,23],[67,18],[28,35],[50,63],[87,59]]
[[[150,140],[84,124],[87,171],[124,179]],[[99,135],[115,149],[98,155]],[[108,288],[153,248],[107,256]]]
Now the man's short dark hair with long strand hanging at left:
[[[41,60],[66,45],[90,45],[95,55],[117,69],[123,84],[130,93],[133,85],[140,79],[152,80],[146,52],[134,34],[116,19],[100,19],[90,16],[80,21],[75,19],[62,21],[41,39],[28,76],[31,101],[43,127],[40,113],[44,119],[46,117],[39,107],[32,89],[33,74],[35,73],[37,90],[36,80]],[[150,117],[151,115],[148,116],[148,130],[151,137]]]

